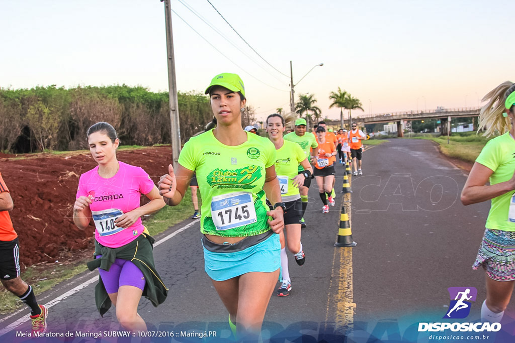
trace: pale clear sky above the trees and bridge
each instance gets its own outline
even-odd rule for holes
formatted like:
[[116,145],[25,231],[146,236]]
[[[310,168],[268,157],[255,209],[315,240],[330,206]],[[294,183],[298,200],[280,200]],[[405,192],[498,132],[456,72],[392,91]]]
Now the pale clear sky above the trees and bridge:
[[[290,60],[294,83],[323,62],[295,91],[314,94],[332,119],[339,109],[329,109],[328,97],[338,86],[369,114],[477,106],[494,86],[515,81],[513,0],[210,1],[286,76],[207,0],[171,0],[178,89],[203,91],[216,74],[237,73],[261,118],[289,109]],[[159,0],[0,4],[0,87],[125,83],[168,90]]]

